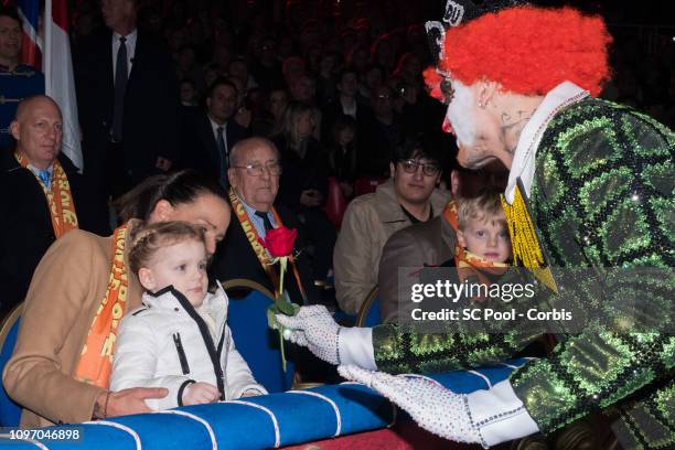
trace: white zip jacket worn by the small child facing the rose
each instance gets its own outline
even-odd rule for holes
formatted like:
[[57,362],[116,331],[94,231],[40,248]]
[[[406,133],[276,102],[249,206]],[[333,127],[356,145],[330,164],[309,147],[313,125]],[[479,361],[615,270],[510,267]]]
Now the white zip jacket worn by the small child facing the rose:
[[235,349],[227,326],[227,294],[219,283],[201,307],[215,319],[216,340],[188,299],[171,286],[154,294],[146,292],[142,303],[120,323],[111,390],[168,388],[167,397],[146,399],[154,410],[182,406],[183,390],[193,382],[217,386],[224,400],[244,393],[267,394]]

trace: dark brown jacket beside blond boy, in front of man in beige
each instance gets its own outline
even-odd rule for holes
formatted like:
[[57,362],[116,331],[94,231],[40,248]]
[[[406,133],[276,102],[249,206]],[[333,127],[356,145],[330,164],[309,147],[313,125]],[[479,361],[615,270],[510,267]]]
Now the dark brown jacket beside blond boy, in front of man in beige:
[[[440,266],[454,257],[457,235],[441,215],[399,229],[385,244],[379,259],[378,298],[383,322],[395,322],[399,306],[410,306],[407,283],[399,282],[398,268]],[[416,277],[410,269],[410,276]]]

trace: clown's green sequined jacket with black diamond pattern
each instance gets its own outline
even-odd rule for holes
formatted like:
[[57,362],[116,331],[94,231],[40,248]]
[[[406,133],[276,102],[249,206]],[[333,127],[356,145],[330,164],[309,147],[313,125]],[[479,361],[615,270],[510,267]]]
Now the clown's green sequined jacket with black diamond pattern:
[[[537,149],[529,199],[550,265],[668,274],[675,266],[674,153],[675,135],[630,108],[588,98],[558,113]],[[543,432],[612,407],[621,415],[614,431],[624,443],[675,447],[673,277],[642,281],[641,291],[635,283],[611,283],[602,301],[650,298],[660,310],[649,312],[661,326],[618,332],[598,324],[565,333],[548,357],[512,374],[516,395]],[[536,330],[425,334],[379,325],[373,344],[379,369],[424,373],[497,362],[535,336]]]

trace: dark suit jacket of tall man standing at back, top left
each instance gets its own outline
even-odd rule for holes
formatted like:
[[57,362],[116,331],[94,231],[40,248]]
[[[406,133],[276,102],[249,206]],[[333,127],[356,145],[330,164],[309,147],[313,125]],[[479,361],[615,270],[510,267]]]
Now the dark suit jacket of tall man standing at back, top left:
[[[115,106],[113,32],[104,29],[83,40],[74,62],[85,173],[103,180]],[[119,156],[131,183],[157,172],[158,157],[178,161],[179,131],[179,88],[169,51],[159,36],[138,30]]]

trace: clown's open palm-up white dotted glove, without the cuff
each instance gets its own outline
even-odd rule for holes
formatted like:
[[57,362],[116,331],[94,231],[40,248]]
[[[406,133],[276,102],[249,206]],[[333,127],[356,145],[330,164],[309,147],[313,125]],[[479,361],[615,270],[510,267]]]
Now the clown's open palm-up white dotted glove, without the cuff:
[[346,379],[363,383],[408,411],[421,428],[457,442],[486,447],[471,421],[467,395],[454,394],[437,382],[421,376],[394,376],[341,365],[338,372]]

